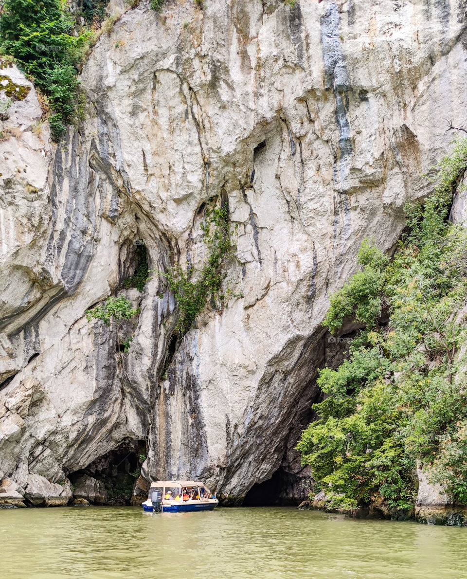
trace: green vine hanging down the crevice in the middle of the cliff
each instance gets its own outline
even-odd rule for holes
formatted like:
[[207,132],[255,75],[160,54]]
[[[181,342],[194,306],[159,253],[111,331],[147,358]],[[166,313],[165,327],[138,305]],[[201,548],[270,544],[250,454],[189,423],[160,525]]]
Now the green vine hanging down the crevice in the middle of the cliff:
[[201,228],[209,251],[201,272],[195,272],[193,267],[185,271],[180,265],[159,272],[165,280],[166,288],[176,299],[179,318],[175,332],[179,336],[186,334],[192,327],[196,316],[208,302],[215,307],[216,302],[223,303],[227,295],[233,295],[231,288],[225,290],[223,284],[227,275],[227,261],[234,254],[227,203],[217,208],[208,208]]

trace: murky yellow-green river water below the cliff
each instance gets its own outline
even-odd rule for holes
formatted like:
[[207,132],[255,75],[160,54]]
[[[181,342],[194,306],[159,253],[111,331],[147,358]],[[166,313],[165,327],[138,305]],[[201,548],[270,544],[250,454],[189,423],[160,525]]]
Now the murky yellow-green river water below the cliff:
[[0,510],[8,579],[467,578],[467,529],[288,507]]

